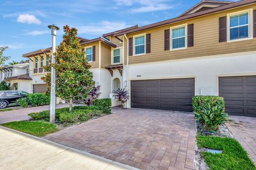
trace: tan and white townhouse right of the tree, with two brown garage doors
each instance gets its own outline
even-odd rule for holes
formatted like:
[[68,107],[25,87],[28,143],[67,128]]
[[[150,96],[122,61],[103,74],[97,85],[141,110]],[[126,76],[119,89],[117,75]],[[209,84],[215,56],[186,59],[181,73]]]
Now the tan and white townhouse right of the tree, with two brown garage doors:
[[227,113],[256,116],[255,37],[256,0],[202,1],[81,45],[101,98],[126,87],[128,107],[192,111],[193,96],[219,95]]

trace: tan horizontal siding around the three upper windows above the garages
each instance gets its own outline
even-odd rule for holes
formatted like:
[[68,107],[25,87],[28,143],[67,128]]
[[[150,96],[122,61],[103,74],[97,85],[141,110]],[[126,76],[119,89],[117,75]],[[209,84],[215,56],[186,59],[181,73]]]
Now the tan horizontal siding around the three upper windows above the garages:
[[[219,18],[226,16],[228,13],[248,10],[250,8],[255,9],[256,5],[239,7],[127,35],[128,38],[131,38],[142,33],[151,33],[151,53],[129,56],[129,64],[254,51],[256,50],[256,38],[232,43],[219,43]],[[194,47],[171,51],[164,50],[164,30],[186,23],[194,23]],[[126,47],[126,40],[124,43]],[[124,48],[124,57],[126,64],[126,48]]]

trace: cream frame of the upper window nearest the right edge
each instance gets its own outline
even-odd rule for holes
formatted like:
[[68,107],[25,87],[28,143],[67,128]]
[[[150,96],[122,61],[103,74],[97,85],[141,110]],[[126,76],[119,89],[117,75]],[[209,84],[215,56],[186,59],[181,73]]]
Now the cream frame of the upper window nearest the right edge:
[[[233,39],[230,40],[230,16],[238,15],[238,14],[243,14],[243,13],[249,13],[248,15],[248,38],[238,38],[238,39]],[[247,24],[246,24],[247,25]],[[239,25],[239,27],[242,27],[243,25]],[[244,25],[245,26],[245,25]],[[227,43],[235,42],[235,41],[243,41],[243,40],[249,40],[253,39],[253,8],[250,8],[249,10],[243,10],[243,11],[238,11],[238,12],[233,12],[227,14]],[[236,28],[236,27],[231,27],[231,28]]]

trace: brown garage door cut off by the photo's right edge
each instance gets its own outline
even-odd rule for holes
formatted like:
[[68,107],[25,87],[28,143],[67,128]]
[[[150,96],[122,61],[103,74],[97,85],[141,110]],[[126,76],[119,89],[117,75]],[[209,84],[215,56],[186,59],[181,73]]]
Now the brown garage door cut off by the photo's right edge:
[[219,96],[225,99],[227,113],[256,116],[256,76],[220,77]]

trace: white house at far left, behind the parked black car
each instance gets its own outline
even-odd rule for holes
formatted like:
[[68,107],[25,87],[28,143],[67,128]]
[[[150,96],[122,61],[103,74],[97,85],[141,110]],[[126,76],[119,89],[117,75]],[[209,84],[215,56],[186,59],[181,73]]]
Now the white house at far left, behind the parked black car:
[[14,64],[2,67],[2,81],[10,83],[10,90],[23,90],[29,92],[30,81],[29,77],[29,61],[21,61],[19,64]]

